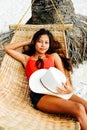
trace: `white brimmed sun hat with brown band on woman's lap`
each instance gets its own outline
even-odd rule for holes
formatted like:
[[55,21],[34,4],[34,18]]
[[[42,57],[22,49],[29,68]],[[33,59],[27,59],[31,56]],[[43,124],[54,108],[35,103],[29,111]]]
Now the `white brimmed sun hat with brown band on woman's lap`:
[[73,93],[58,94],[57,88],[64,89],[62,83],[66,82],[65,75],[55,67],[49,69],[39,69],[35,71],[29,79],[29,87],[35,93],[55,95],[64,99],[69,99]]

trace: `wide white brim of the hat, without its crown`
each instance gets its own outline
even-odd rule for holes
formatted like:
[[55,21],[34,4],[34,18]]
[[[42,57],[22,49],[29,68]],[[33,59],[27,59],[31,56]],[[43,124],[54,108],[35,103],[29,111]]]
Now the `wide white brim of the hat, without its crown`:
[[48,94],[48,95],[54,95],[57,97],[61,97],[64,99],[69,99],[71,97],[71,93],[70,94],[57,94],[57,90],[52,90],[49,91],[48,89],[46,89],[40,82],[40,78],[47,72],[47,69],[40,69],[35,71],[29,79],[29,87],[30,89],[35,92],[35,93],[40,93],[40,94]]

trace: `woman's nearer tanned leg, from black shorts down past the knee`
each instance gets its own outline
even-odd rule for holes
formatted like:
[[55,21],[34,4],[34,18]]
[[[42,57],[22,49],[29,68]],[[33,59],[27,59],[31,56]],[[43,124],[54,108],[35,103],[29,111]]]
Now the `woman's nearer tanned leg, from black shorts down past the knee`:
[[79,101],[74,101],[74,98],[73,96],[70,100],[65,100],[55,96],[45,95],[37,103],[37,108],[43,112],[71,114],[80,122],[82,130],[87,130],[85,107]]

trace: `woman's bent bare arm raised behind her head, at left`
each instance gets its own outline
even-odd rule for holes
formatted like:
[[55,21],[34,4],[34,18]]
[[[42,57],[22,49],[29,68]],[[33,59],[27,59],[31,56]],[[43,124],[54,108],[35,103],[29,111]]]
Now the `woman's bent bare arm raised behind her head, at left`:
[[20,48],[22,46],[26,46],[30,44],[29,41],[26,42],[17,42],[17,43],[13,43],[13,44],[8,44],[4,46],[4,50],[13,58],[15,58],[16,60],[20,61],[24,66],[26,66],[26,62],[27,59],[29,58],[29,56],[22,54],[20,52],[18,52],[16,49]]

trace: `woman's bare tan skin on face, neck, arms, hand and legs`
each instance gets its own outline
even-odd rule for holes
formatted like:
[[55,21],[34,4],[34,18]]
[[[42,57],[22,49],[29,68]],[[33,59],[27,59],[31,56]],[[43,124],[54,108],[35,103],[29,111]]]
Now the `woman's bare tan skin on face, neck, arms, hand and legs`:
[[[30,44],[29,41],[9,44],[4,46],[4,50],[13,58],[21,62],[26,67],[27,61],[30,56],[19,53],[16,49]],[[38,56],[45,57],[45,53],[49,48],[49,37],[44,34],[41,35],[39,40],[36,41],[36,53],[33,59],[37,59]],[[64,67],[60,56],[57,53],[50,54],[55,67],[61,70],[64,74]],[[64,84],[65,90],[58,89],[58,93],[67,94],[73,91],[67,78],[66,84]],[[49,107],[50,106],[50,107]],[[58,98],[56,96],[44,95],[37,103],[37,108],[43,112],[48,113],[65,113],[75,116],[81,124],[82,130],[87,130],[87,102],[82,98],[72,95],[69,100]]]

